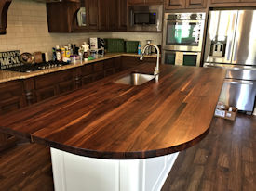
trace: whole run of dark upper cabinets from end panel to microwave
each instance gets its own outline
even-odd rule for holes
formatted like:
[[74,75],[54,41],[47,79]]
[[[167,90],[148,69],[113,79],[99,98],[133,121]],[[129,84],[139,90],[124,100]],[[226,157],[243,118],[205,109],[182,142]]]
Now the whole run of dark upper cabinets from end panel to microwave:
[[47,4],[49,32],[127,31],[127,0],[81,0]]

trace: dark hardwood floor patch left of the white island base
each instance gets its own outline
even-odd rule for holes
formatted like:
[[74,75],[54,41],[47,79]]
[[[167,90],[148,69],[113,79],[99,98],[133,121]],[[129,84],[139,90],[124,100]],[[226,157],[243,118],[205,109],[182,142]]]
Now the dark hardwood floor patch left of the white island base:
[[0,191],[51,191],[49,148],[16,146],[0,153]]

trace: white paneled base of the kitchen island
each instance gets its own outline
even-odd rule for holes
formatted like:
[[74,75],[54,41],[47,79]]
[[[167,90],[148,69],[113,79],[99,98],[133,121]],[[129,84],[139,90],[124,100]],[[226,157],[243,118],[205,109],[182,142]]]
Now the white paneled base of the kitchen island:
[[150,159],[94,159],[50,148],[55,191],[158,191],[179,152]]

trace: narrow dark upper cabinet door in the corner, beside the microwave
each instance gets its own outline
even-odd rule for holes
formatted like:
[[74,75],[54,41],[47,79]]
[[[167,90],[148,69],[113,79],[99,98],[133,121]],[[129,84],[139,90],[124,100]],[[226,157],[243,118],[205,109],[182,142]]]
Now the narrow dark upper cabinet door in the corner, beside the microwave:
[[118,27],[117,31],[127,31],[128,27],[128,1],[117,0],[118,6]]

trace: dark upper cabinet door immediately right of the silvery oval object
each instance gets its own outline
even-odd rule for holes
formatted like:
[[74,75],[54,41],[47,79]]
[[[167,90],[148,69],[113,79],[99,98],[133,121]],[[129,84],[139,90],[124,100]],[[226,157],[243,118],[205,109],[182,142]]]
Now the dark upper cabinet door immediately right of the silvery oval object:
[[90,31],[98,30],[98,1],[87,0],[88,28]]

